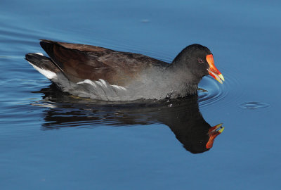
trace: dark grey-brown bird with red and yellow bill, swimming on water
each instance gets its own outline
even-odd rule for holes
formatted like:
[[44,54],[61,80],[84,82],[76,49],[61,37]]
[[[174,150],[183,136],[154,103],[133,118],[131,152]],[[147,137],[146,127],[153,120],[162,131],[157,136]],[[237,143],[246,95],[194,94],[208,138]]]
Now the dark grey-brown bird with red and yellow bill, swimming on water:
[[186,46],[171,63],[140,53],[100,46],[41,39],[46,52],[25,59],[58,89],[101,101],[179,99],[197,94],[202,77],[224,77],[211,51],[200,44]]

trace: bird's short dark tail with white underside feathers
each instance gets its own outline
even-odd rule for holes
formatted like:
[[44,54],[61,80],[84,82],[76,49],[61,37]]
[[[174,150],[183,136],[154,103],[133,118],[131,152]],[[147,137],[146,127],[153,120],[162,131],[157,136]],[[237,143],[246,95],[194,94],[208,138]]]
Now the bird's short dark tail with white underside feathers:
[[27,53],[25,59],[42,75],[53,81],[57,79],[61,70],[51,61],[50,58],[41,53]]

